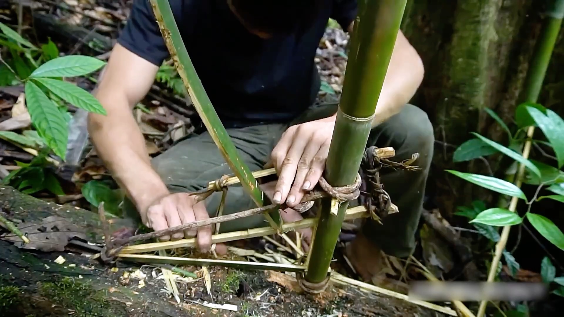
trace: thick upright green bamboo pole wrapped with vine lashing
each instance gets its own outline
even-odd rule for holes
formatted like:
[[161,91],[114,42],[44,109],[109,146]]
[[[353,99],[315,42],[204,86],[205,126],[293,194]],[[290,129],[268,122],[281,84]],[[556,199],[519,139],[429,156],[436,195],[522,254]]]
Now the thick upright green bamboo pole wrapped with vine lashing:
[[[390,63],[406,0],[361,0],[354,23],[343,93],[329,148],[325,179],[331,186],[354,183],[376,103]],[[306,281],[321,283],[333,258],[348,202],[323,199]],[[332,212],[338,208],[338,213]]]

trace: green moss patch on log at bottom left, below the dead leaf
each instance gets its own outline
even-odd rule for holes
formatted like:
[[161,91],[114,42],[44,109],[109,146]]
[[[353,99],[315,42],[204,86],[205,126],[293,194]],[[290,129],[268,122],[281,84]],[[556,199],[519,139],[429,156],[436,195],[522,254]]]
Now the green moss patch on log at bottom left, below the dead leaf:
[[89,284],[72,278],[41,283],[39,293],[52,303],[73,310],[76,316],[125,315],[124,307],[109,302],[103,291],[94,290]]

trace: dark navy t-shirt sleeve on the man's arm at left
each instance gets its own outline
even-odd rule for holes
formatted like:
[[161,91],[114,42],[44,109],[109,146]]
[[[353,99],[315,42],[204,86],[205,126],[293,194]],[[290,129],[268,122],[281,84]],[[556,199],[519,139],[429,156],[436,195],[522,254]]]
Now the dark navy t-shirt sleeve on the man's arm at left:
[[149,0],[135,0],[117,42],[157,66],[169,56]]

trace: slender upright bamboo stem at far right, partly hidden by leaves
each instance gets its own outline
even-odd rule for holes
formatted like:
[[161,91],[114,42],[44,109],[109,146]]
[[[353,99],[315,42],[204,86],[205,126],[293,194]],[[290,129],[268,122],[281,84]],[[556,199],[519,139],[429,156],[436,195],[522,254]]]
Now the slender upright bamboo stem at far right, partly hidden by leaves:
[[[550,63],[550,56],[552,56],[552,51],[554,50],[554,44],[558,38],[558,33],[560,32],[562,25],[562,18],[564,17],[564,0],[551,0],[547,11],[545,12],[545,20],[543,24],[543,29],[540,32],[540,36],[537,39],[535,45],[535,51],[533,52],[531,63],[527,71],[527,76],[525,78],[525,83],[523,86],[523,92],[521,94],[521,102],[536,103],[539,99],[540,90],[543,87],[544,76],[547,73],[548,64]],[[535,133],[535,126],[530,126],[527,128],[527,142],[523,146],[523,156],[528,158],[531,151],[531,139]],[[515,175],[515,185],[521,187],[523,175],[525,174],[525,165],[520,164],[517,170],[517,175]],[[517,210],[517,197],[512,197],[509,203],[509,210],[515,212]],[[509,231],[511,226],[503,227],[501,230],[501,237],[499,242],[496,244],[495,254],[493,255],[492,263],[490,266],[490,271],[488,272],[488,282],[492,282],[495,279],[497,266],[501,259],[501,254],[505,249],[507,240],[509,238]],[[483,317],[486,313],[487,301],[482,301],[478,308],[477,317]]]

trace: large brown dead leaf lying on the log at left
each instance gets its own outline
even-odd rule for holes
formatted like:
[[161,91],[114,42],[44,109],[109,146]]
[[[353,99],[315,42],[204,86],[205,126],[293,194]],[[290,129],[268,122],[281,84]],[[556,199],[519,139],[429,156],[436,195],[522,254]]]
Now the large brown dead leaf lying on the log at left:
[[86,235],[78,226],[58,216],[44,218],[41,223],[19,223],[17,227],[28,237],[30,243],[24,243],[13,234],[4,234],[0,238],[11,241],[22,249],[37,249],[44,252],[64,251],[68,241],[73,237],[86,240]]

